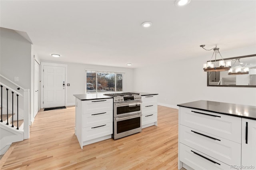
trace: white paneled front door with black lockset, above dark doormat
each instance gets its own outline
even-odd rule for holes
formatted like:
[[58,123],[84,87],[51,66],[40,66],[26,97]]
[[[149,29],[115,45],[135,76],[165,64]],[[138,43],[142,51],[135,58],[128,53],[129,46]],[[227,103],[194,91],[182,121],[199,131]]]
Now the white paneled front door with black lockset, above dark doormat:
[[65,106],[65,69],[65,67],[44,65],[44,108]]

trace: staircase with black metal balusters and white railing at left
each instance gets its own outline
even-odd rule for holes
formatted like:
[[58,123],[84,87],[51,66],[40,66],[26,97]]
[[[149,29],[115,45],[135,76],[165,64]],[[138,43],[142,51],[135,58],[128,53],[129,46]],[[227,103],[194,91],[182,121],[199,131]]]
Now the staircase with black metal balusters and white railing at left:
[[0,158],[13,142],[29,138],[29,89],[0,75]]

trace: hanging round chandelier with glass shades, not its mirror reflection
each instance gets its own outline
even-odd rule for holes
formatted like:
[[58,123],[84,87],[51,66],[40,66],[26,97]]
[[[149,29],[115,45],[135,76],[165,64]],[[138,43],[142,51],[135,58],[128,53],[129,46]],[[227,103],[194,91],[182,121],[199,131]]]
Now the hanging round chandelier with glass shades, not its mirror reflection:
[[[200,45],[200,47],[202,47],[203,49],[205,49],[204,48],[204,46],[205,45]],[[212,48],[213,49],[213,54],[212,54],[212,57],[213,57],[213,55],[214,55],[214,53],[215,53],[215,59],[214,60],[212,60],[212,58],[211,58],[211,60],[210,61],[208,61],[207,63],[204,63],[204,71],[207,71],[207,72],[209,72],[209,71],[228,71],[229,69],[230,69],[230,67],[231,67],[231,61],[224,61],[224,59],[222,58],[222,56],[221,56],[221,54],[220,54],[220,51],[219,51],[219,49],[220,48],[218,48],[217,47],[217,45],[216,45],[216,47],[214,47],[214,48]],[[205,49],[205,50],[207,50],[207,51],[210,51],[210,50],[212,50],[212,49]],[[216,56],[217,56],[217,53],[218,54],[220,54],[220,57],[222,58],[220,61],[219,61],[219,65],[218,65],[218,67],[217,67],[217,65],[216,65],[216,63],[217,63],[217,61],[216,61]],[[212,62],[213,61],[213,62]]]

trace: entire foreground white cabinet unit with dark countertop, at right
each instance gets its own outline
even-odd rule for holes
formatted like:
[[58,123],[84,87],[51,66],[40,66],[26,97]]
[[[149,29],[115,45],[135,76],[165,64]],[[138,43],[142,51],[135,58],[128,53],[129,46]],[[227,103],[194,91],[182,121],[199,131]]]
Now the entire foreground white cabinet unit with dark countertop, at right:
[[178,169],[256,169],[256,107],[179,104]]

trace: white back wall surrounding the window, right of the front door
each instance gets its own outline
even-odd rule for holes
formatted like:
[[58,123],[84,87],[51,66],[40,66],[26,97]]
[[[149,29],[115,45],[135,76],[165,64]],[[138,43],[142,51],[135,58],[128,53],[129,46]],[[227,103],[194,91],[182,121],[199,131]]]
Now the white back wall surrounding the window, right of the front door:
[[[52,61],[42,61],[47,63],[52,63]],[[74,94],[84,94],[86,90],[86,69],[92,70],[106,70],[106,71],[122,71],[125,72],[124,88],[125,91],[133,90],[133,69],[122,68],[122,67],[108,67],[101,65],[89,65],[89,64],[79,64],[79,63],[64,63],[67,64],[67,80],[66,84],[69,83],[70,86],[67,88],[67,105],[75,105]]]

